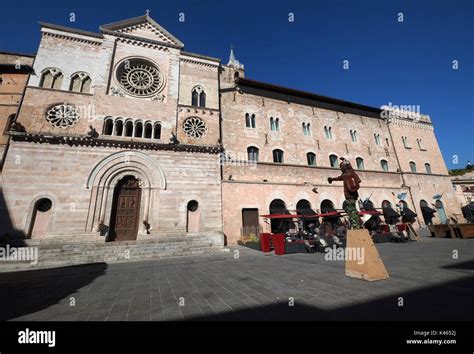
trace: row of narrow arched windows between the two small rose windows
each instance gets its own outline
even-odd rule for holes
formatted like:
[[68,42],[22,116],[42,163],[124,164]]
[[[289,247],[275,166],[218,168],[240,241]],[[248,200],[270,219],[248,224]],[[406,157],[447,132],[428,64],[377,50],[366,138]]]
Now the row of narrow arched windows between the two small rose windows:
[[103,135],[161,139],[161,123],[107,117],[104,122]]

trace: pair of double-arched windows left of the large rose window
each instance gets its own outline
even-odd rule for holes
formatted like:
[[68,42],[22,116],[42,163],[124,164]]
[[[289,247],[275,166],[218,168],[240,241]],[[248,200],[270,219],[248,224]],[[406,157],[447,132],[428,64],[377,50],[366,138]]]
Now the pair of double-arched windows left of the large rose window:
[[[64,74],[58,68],[48,68],[41,73],[39,86],[61,90]],[[90,75],[81,71],[71,75],[69,82],[69,91],[89,93],[91,90],[92,80]]]

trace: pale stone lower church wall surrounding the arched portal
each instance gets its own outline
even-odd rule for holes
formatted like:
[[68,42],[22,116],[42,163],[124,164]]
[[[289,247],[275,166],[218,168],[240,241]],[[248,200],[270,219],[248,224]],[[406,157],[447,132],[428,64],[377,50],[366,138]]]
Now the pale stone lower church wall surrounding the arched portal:
[[[92,229],[87,227],[93,210],[93,193],[88,179],[102,160],[114,153],[125,152],[110,148],[12,142],[2,180],[2,194],[8,212],[1,212],[0,229],[4,233],[14,230],[27,233],[35,201],[49,198],[54,209],[48,228],[50,235],[97,235],[95,226],[100,220],[92,220]],[[131,162],[134,157],[143,154],[151,158],[162,169],[166,179],[166,186],[157,185],[155,198],[151,201],[149,221],[152,235],[185,232],[187,203],[190,200],[199,202],[200,231],[222,230],[217,155],[167,151],[128,153]],[[133,174],[135,169],[127,166],[125,163],[120,171]],[[110,203],[107,207],[110,209]],[[109,211],[106,215],[110,215]],[[8,217],[10,220],[6,220]],[[108,221],[107,218],[104,220],[107,225]],[[12,225],[10,229],[8,224]]]

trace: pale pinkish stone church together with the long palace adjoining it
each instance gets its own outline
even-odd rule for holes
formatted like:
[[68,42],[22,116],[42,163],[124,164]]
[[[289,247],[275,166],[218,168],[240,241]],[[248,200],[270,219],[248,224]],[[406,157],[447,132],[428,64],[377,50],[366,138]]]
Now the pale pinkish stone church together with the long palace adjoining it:
[[339,157],[376,207],[405,193],[421,223],[424,205],[461,214],[428,116],[245,78],[233,50],[186,52],[149,15],[41,33],[7,129],[2,233],[235,244],[271,230],[262,214],[340,209]]

